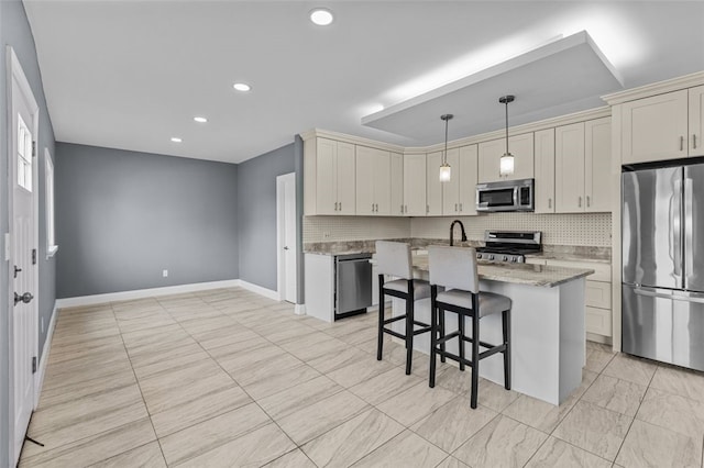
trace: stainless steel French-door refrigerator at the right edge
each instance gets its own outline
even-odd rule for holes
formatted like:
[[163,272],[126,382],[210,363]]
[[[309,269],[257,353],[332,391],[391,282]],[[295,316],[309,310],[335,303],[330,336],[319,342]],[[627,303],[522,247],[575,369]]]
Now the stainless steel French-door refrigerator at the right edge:
[[704,164],[622,177],[623,350],[704,370]]

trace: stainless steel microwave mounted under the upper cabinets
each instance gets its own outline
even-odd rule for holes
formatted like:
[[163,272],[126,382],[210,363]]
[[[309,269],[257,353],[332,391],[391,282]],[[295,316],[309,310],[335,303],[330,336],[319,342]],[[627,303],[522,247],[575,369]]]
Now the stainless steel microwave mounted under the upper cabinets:
[[476,185],[476,211],[534,211],[534,179]]

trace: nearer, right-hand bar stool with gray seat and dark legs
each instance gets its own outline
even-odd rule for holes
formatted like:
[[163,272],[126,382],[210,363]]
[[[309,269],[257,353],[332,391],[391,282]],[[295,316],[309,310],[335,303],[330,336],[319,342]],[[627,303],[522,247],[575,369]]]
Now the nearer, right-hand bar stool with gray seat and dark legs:
[[[464,366],[472,367],[472,394],[471,406],[476,408],[477,388],[480,377],[480,360],[496,353],[504,355],[504,387],[510,390],[510,305],[509,298],[493,292],[480,291],[480,281],[476,274],[476,252],[468,247],[428,247],[428,263],[430,266],[430,308],[431,308],[431,337],[430,337],[430,376],[429,386],[436,386],[436,356],[448,357],[460,364],[460,370]],[[438,292],[439,287],[446,290]],[[444,312],[458,314],[458,330],[446,334],[443,321],[439,322],[439,315]],[[492,345],[481,341],[480,321],[490,314],[502,314],[502,332],[504,343]],[[472,320],[472,337],[464,333],[464,319]],[[458,338],[459,356],[444,349],[444,344]],[[464,357],[464,343],[472,344],[472,356]],[[480,353],[480,346],[487,350]]]

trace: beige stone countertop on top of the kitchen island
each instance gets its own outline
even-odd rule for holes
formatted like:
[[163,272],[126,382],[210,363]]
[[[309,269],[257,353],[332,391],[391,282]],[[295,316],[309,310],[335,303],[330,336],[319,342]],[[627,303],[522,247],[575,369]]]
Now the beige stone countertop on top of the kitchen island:
[[[421,276],[428,274],[427,255],[414,255],[413,263],[414,269],[419,271]],[[480,279],[542,288],[553,288],[593,272],[594,270],[590,269],[549,267],[544,265],[477,263]]]

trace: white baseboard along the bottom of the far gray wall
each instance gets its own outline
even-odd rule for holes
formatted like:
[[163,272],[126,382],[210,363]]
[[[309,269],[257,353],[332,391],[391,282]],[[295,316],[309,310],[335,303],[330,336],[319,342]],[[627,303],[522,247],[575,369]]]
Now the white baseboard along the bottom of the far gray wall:
[[[168,296],[168,294],[179,294],[184,292],[206,291],[208,289],[234,288],[238,286],[241,286],[244,289],[250,289],[244,285],[242,285],[239,279],[227,279],[223,281],[195,282],[191,285],[167,286],[164,288],[138,289],[134,291],[109,292],[107,294],[64,298],[64,299],[56,300],[56,307],[58,309],[75,308],[80,305],[102,304],[106,302],[129,301],[133,299],[152,298],[155,296]],[[252,285],[252,286],[255,286],[255,285]],[[270,291],[268,289],[264,289],[264,288],[261,288],[261,289],[265,291]],[[253,289],[250,289],[250,290],[253,290]],[[254,292],[258,292],[258,291],[254,291]],[[266,296],[266,294],[262,294],[262,296]]]

